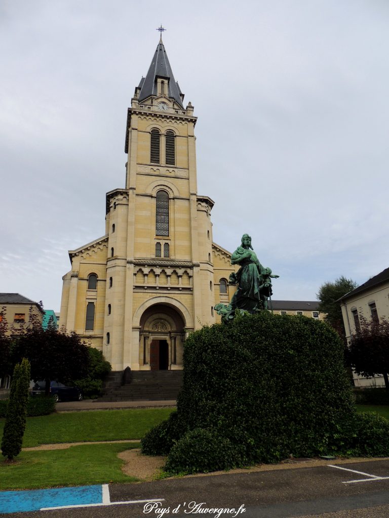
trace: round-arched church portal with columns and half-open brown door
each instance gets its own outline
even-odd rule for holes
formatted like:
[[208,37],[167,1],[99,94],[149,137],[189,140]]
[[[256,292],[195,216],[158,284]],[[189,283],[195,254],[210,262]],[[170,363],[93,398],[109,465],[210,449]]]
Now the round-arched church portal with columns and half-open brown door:
[[166,304],[145,310],[140,321],[140,365],[146,370],[182,369],[185,322]]

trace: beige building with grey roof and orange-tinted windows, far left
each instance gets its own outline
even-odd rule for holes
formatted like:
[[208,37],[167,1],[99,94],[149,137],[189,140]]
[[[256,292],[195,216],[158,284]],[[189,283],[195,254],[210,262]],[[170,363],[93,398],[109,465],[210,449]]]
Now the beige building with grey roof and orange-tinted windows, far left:
[[7,320],[9,335],[16,334],[34,320],[42,322],[43,314],[37,302],[20,293],[0,293],[0,321]]

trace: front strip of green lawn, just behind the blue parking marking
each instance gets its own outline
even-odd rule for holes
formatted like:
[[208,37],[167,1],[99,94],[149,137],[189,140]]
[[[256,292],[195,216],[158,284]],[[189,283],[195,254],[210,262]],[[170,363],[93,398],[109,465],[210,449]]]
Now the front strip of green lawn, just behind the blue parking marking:
[[[106,412],[109,414],[110,412]],[[66,450],[22,452],[15,464],[0,462],[0,490],[135,482],[117,454],[139,444],[85,444]]]

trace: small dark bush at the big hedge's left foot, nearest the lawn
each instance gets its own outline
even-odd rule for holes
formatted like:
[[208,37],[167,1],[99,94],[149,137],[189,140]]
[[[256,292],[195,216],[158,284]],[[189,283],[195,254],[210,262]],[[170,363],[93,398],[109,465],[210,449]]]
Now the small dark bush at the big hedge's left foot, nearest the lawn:
[[179,420],[178,413],[172,412],[169,419],[151,428],[141,439],[144,455],[166,455],[176,441],[185,433],[185,426]]

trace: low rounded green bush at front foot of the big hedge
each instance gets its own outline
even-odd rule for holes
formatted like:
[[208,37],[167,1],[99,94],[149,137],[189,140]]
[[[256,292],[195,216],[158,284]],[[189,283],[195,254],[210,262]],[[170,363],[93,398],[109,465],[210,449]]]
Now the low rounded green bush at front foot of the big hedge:
[[212,429],[195,428],[177,441],[165,471],[170,474],[208,472],[240,466],[239,449]]

